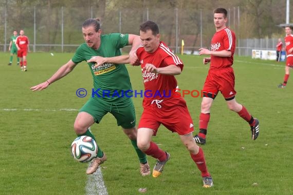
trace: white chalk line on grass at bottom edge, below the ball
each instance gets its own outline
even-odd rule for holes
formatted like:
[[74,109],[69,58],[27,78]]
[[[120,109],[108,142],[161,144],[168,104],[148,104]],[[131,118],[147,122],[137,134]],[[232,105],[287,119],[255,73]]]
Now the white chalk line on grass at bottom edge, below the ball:
[[86,195],[108,195],[107,188],[104,184],[103,174],[101,167],[93,173],[89,174],[87,177],[87,182],[85,186]]

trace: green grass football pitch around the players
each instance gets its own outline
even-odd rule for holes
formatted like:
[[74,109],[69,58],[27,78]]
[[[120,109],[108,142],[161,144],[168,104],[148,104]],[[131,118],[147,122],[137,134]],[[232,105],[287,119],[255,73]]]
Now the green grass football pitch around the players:
[[[70,154],[76,138],[73,124],[87,101],[78,88],[91,90],[92,79],[83,62],[44,91],[31,92],[46,81],[72,53],[29,53],[28,71],[7,66],[9,53],[0,53],[0,194],[85,194],[88,164]],[[184,71],[176,76],[180,89],[199,90],[208,66],[202,56],[181,56]],[[133,89],[143,89],[140,68],[127,66]],[[141,177],[130,141],[107,114],[92,126],[107,153],[102,174],[108,194],[293,194],[293,77],[284,89],[284,63],[235,57],[237,101],[260,120],[260,136],[251,140],[248,124],[229,111],[222,95],[212,107],[207,144],[203,146],[214,187],[204,189],[200,172],[178,135],[160,127],[154,141],[171,153],[159,178]],[[200,98],[185,97],[197,133]],[[142,98],[134,98],[137,119]],[[155,160],[148,158],[151,167]],[[98,193],[97,193],[98,194]]]

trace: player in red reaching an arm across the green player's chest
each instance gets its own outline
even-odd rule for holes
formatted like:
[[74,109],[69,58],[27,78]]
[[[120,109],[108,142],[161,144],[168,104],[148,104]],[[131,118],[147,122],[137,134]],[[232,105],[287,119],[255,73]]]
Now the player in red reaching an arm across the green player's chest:
[[[163,151],[152,142],[162,124],[172,132],[177,132],[182,143],[190,152],[191,159],[202,172],[204,187],[212,187],[213,180],[207,169],[202,148],[193,140],[193,122],[185,100],[175,95],[177,81],[174,75],[180,74],[183,63],[172,53],[169,47],[160,41],[159,28],[156,23],[147,21],[140,26],[140,45],[136,54],[141,65],[144,91],[152,92],[143,98],[143,113],[137,130],[137,146],[144,153],[157,159],[153,169],[153,177],[158,177],[164,165],[170,159],[170,154]],[[124,57],[124,61],[121,59]],[[104,58],[100,61],[95,56],[88,62],[129,63],[127,56]],[[119,61],[121,60],[121,61]],[[171,92],[172,91],[172,92]],[[169,92],[169,93],[168,93]]]

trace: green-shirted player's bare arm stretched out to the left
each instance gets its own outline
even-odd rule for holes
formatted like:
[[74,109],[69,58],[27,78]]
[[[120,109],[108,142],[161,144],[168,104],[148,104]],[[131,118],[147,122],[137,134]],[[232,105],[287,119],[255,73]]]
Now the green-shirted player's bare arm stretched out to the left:
[[74,62],[72,62],[71,60],[68,61],[66,64],[64,64],[63,66],[61,66],[51,77],[50,79],[48,79],[47,81],[45,81],[44,83],[40,83],[39,85],[35,85],[33,87],[31,87],[30,89],[32,91],[41,91],[43,89],[46,89],[50,84],[52,84],[55,81],[58,81],[59,79],[61,79],[62,77],[66,76],[69,72],[71,72],[75,66],[77,64],[75,64]]

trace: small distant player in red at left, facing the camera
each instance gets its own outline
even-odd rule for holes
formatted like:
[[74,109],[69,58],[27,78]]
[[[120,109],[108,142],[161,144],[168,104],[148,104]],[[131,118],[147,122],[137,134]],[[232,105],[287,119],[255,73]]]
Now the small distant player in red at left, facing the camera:
[[24,35],[24,30],[20,31],[20,36],[17,36],[15,45],[17,47],[17,57],[20,58],[22,71],[26,71],[26,55],[29,52],[28,37]]

